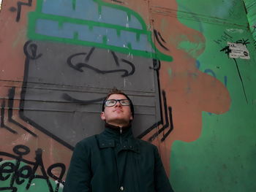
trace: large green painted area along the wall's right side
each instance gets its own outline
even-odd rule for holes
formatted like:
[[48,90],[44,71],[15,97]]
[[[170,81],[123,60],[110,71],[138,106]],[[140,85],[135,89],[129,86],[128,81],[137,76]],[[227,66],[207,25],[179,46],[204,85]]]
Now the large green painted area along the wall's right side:
[[[181,18],[184,11],[189,20]],[[177,192],[254,192],[256,55],[244,6],[241,1],[207,1],[207,4],[206,1],[196,4],[194,1],[178,1],[178,19],[206,38],[206,50],[197,57],[198,68],[214,73],[227,87],[232,103],[230,110],[222,115],[203,112],[199,139],[173,143],[170,161],[173,188]],[[220,52],[227,42],[239,39],[250,42],[247,45],[250,59],[236,58],[248,102],[234,59]],[[181,42],[179,48],[191,52],[189,50],[195,46]]]

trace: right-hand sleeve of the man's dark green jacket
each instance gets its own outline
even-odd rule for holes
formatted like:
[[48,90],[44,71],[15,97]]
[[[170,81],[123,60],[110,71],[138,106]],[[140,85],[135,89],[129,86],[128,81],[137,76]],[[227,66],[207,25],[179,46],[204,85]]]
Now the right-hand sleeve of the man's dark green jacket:
[[154,186],[157,192],[174,192],[165,173],[157,147],[154,146]]

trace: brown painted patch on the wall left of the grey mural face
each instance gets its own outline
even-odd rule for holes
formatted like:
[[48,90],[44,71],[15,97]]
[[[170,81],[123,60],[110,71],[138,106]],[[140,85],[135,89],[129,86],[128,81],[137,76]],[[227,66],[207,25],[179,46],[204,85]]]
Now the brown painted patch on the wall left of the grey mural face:
[[[4,7],[2,7],[0,13],[0,104],[5,104],[4,125],[18,133],[12,134],[10,131],[7,131],[6,128],[0,128],[0,151],[13,154],[12,149],[15,145],[26,145],[30,148],[31,152],[24,156],[24,158],[29,161],[34,161],[35,151],[38,148],[42,148],[42,160],[46,169],[51,164],[56,163],[65,164],[68,168],[72,151],[59,144],[59,142],[56,142],[56,140],[48,137],[46,134],[43,134],[37,128],[29,125],[29,123],[24,122],[18,115],[25,63],[23,45],[27,41],[27,14],[28,12],[34,11],[36,2],[37,1],[33,1],[31,7],[22,7],[20,20],[18,22],[15,21],[17,11],[13,8],[17,7],[17,1],[4,1]],[[8,122],[8,91],[12,87],[16,87],[12,118],[26,128],[29,128],[34,134],[37,134],[37,137],[32,136],[19,126]],[[1,158],[6,159],[6,157]],[[58,173],[55,174],[57,175]]]

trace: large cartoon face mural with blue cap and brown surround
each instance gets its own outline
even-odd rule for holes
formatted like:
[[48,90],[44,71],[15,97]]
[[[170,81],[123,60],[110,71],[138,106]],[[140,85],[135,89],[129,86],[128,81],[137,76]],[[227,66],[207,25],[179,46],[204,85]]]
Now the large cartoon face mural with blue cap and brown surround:
[[[9,83],[1,82],[1,131],[7,135],[1,146],[12,150],[12,141],[31,150],[41,147],[48,166],[56,159],[68,165],[75,143],[102,131],[100,101],[116,86],[134,101],[135,136],[159,145],[168,170],[173,141],[194,141],[200,136],[202,111],[219,114],[230,104],[225,86],[196,68],[205,39],[177,18],[157,14],[161,6],[177,7],[175,1],[159,6],[152,1],[148,14],[154,22],[138,1],[126,7],[74,2],[39,0],[35,7],[28,1],[20,7],[30,13],[12,16],[15,25],[2,42],[8,54],[0,58],[1,78]],[[92,13],[82,14],[85,7]],[[22,37],[20,31],[25,31]],[[200,46],[189,55],[178,48],[182,41]]]

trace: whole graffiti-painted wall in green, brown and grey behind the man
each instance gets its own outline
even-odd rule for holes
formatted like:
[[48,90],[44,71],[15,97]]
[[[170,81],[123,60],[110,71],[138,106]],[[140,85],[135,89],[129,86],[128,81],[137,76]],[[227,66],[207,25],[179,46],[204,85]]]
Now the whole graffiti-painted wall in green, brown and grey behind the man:
[[[62,191],[116,87],[175,191],[255,191],[255,40],[243,1],[4,0],[0,191]],[[250,22],[252,23],[252,22]],[[252,29],[252,28],[251,28]]]

